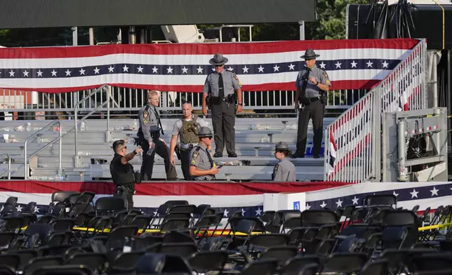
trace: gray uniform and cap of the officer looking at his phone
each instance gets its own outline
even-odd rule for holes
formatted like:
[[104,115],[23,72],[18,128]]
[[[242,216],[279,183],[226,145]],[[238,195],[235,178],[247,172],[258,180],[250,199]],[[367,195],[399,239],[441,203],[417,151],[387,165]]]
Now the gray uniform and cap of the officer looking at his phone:
[[[212,131],[208,127],[199,129],[198,137],[211,137]],[[208,152],[207,147],[197,145],[190,152],[190,166],[196,166],[199,170],[210,170],[215,166],[211,153]],[[192,177],[192,180],[212,180],[214,175],[204,175],[200,177]]]

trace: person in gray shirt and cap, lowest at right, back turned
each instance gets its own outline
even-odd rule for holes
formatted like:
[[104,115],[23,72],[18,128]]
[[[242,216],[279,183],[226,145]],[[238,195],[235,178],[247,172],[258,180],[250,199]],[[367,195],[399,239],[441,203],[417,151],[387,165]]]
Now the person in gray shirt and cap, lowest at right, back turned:
[[272,180],[275,182],[295,182],[295,166],[288,161],[287,156],[291,156],[286,142],[278,142],[274,148],[274,157],[279,163],[274,166]]

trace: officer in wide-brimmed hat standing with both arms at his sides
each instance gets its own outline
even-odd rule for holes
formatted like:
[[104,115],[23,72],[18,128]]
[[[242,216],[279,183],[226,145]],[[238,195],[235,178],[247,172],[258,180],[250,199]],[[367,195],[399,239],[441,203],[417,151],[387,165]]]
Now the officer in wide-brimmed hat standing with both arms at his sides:
[[[215,132],[215,157],[221,157],[226,145],[227,155],[235,153],[235,115],[241,112],[241,83],[233,72],[225,70],[227,58],[215,53],[209,61],[215,71],[208,74],[204,83],[202,112],[207,115],[206,102],[212,112],[213,132]],[[234,95],[234,93],[236,95]],[[237,107],[235,106],[237,96]]]

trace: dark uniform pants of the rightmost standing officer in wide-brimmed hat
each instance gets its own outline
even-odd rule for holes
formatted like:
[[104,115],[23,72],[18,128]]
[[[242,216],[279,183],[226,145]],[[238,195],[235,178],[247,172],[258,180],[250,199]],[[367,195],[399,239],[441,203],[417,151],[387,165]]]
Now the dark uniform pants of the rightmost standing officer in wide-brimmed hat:
[[297,151],[296,155],[305,156],[306,140],[307,140],[307,124],[312,119],[312,126],[314,130],[314,147],[312,148],[313,155],[319,155],[321,149],[321,141],[324,133],[324,113],[325,105],[320,100],[312,102],[310,105],[300,109],[298,115],[298,133],[297,133]]

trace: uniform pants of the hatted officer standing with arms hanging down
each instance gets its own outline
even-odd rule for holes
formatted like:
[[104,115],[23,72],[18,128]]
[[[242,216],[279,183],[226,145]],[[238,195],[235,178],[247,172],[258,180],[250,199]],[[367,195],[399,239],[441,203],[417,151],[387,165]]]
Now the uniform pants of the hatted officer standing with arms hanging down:
[[212,105],[212,124],[215,132],[215,153],[222,155],[226,145],[227,154],[235,153],[235,105],[221,102]]

